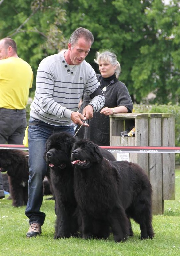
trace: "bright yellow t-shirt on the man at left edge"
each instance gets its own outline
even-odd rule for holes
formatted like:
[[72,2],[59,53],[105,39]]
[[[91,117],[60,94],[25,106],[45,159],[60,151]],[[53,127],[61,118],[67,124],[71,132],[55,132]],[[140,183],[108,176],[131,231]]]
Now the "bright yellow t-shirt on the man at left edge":
[[24,109],[33,83],[31,66],[21,58],[0,60],[0,108]]

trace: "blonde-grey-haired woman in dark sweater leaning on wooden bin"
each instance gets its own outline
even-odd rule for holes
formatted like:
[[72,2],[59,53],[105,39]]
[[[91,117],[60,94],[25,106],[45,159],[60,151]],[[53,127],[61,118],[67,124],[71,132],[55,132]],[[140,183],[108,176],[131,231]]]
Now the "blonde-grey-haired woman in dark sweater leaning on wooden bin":
[[[100,74],[97,80],[105,96],[105,104],[101,110],[95,112],[89,120],[89,127],[81,128],[77,134],[79,138],[88,138],[100,146],[109,146],[109,115],[117,113],[131,113],[133,104],[127,87],[118,80],[121,71],[120,64],[113,52],[96,53],[95,63],[99,65]],[[90,103],[90,97],[84,93],[79,103],[79,111]]]

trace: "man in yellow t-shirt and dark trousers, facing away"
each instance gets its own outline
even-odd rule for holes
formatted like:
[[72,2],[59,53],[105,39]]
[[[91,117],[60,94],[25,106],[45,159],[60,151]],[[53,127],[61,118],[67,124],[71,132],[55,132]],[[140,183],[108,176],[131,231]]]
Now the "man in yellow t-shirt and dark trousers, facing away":
[[[31,66],[17,55],[16,42],[0,40],[0,144],[22,144],[26,121],[26,104],[32,87]],[[0,172],[0,199],[4,197]]]

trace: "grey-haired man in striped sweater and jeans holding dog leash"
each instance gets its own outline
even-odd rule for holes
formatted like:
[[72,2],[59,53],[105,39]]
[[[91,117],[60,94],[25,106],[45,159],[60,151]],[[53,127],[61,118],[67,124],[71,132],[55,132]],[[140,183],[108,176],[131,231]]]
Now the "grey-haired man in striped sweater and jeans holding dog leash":
[[[46,215],[40,208],[47,169],[43,154],[48,137],[58,131],[74,135],[75,124],[85,125],[82,120],[92,118],[93,112],[105,103],[95,71],[85,61],[93,41],[88,29],[77,28],[70,37],[68,49],[46,57],[38,67],[28,128],[30,176],[25,214],[30,227],[27,237],[40,235],[45,221]],[[81,114],[78,103],[84,90],[91,101]]]

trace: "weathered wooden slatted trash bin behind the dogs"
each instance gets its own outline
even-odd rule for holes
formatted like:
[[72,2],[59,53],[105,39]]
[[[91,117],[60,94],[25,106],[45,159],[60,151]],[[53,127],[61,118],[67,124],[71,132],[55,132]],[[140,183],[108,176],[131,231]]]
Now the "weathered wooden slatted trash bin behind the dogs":
[[[121,132],[135,127],[135,136]],[[122,113],[110,116],[110,146],[175,146],[175,114]],[[117,160],[139,164],[153,190],[153,214],[164,212],[164,200],[175,199],[175,153],[113,153]]]

